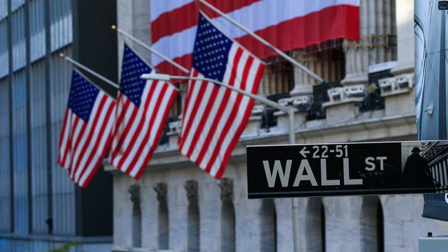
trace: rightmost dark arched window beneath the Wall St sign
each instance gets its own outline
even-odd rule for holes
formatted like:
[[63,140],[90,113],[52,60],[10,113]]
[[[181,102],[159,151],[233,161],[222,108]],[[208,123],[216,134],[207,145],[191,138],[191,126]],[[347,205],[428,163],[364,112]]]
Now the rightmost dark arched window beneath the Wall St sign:
[[366,196],[361,207],[361,249],[384,252],[383,207],[378,196]]

